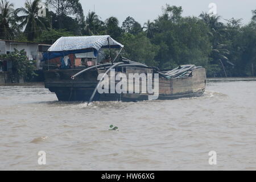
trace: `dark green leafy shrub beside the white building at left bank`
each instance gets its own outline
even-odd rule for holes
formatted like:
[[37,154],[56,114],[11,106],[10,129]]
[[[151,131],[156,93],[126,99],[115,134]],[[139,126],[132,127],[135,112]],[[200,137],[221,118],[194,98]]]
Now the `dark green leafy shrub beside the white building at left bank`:
[[32,76],[36,76],[34,73],[35,63],[29,61],[24,50],[18,51],[14,49],[14,52],[10,54],[0,55],[1,59],[12,61],[13,73],[19,77],[24,77],[25,80],[28,80]]

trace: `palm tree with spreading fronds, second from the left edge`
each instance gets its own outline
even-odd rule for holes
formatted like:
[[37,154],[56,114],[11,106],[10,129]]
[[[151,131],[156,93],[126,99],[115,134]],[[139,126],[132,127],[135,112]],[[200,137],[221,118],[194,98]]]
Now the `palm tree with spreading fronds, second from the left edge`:
[[[21,7],[15,10],[16,19],[20,28],[25,27],[24,34],[27,36],[28,41],[34,41],[39,36],[40,32],[48,25],[47,19],[38,16],[40,0],[26,1],[25,8]],[[19,13],[24,15],[18,16]]]

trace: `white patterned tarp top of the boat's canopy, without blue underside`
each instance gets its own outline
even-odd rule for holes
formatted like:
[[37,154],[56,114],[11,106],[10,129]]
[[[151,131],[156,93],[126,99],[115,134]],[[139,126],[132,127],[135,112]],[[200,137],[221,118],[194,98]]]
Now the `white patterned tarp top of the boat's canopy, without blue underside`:
[[[109,39],[109,42],[108,42]],[[97,36],[63,36],[56,40],[48,49],[50,52],[72,51],[88,48],[95,48],[97,51],[104,46],[123,47],[122,44],[112,39],[109,35]]]

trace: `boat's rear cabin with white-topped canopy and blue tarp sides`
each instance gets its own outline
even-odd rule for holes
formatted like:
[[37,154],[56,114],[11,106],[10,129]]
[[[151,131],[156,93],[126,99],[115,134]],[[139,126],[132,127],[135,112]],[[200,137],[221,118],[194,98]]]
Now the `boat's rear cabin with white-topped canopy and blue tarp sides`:
[[[92,67],[97,64],[113,61],[115,50],[123,45],[116,42],[109,35],[61,37],[44,53],[44,70],[61,69],[61,61],[69,59],[68,68]],[[108,53],[107,53],[108,52]]]

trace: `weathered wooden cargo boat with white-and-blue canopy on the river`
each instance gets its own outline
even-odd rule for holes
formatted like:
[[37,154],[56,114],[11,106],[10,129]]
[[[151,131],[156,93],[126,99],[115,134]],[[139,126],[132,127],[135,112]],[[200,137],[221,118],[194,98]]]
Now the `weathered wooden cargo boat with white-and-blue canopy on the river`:
[[[80,46],[77,46],[77,44]],[[98,47],[92,46],[95,44]],[[55,92],[59,101],[141,101],[152,98],[148,96],[154,94],[157,94],[158,97],[156,99],[158,100],[171,100],[181,97],[197,97],[204,93],[206,84],[205,69],[195,67],[195,65],[181,65],[171,71],[163,71],[128,60],[117,53],[111,63],[78,66],[72,69],[56,69],[52,67],[51,60],[56,59],[58,56],[76,55],[88,53],[89,51],[98,53],[101,48],[108,48],[110,51],[112,48],[122,49],[122,47],[122,44],[107,35],[60,38],[48,49],[47,55],[44,55],[47,58],[45,66],[47,70],[44,71],[45,87],[51,92]],[[75,61],[71,62],[75,64]],[[159,89],[155,90],[154,93],[148,93],[147,90],[146,92],[142,90],[142,81],[134,81],[132,86],[127,82],[127,88],[131,87],[133,89],[138,84],[139,92],[137,93],[107,92],[100,94],[97,88],[99,85],[102,86],[102,79],[99,80],[98,76],[102,73],[105,73],[105,76],[110,76],[110,70],[115,71],[114,77],[118,73],[123,73],[127,78],[129,74],[135,73],[138,73],[138,75],[142,73],[147,76],[152,75],[152,86],[158,85]],[[159,75],[157,81],[154,79],[154,74]],[[146,80],[148,81],[148,77]],[[118,82],[114,80],[114,86]],[[109,82],[109,90],[110,87],[111,83]]]

